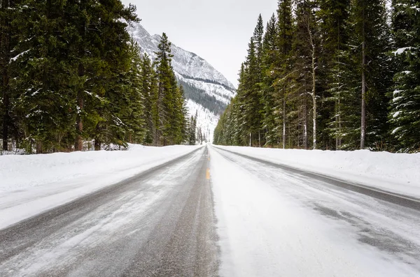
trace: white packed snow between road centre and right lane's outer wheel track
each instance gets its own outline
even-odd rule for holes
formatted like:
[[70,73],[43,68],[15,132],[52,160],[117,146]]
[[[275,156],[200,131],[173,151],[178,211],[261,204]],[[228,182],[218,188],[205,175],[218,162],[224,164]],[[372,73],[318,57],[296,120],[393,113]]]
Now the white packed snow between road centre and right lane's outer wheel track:
[[221,276],[415,275],[214,149],[210,163]]

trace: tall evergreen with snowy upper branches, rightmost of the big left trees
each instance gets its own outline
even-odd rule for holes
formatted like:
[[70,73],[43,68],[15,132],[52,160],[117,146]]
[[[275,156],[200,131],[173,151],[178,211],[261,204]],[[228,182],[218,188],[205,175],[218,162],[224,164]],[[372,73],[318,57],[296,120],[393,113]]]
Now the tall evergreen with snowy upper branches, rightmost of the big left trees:
[[[125,7],[120,0],[106,1],[94,12],[96,28],[93,33],[99,47],[99,62],[95,64],[95,77],[90,79],[97,89],[96,95],[102,98],[98,105],[86,107],[92,109],[99,120],[93,121],[90,133],[94,138],[94,148],[101,149],[102,144],[125,145],[127,124],[123,121],[128,112],[127,101],[130,99],[130,86],[127,85],[127,72],[130,71],[130,35],[126,31],[127,23],[137,20],[135,8]],[[91,22],[92,24],[93,22]],[[92,26],[93,27],[93,26]]]

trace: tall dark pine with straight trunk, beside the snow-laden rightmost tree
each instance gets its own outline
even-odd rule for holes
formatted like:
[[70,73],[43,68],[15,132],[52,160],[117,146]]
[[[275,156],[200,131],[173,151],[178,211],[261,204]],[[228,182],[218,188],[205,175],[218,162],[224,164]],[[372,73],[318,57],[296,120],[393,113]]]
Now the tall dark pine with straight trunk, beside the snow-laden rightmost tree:
[[[344,121],[351,126],[346,132],[346,145],[351,149],[357,148],[357,135],[360,149],[377,148],[378,144],[386,142],[386,91],[391,85],[392,73],[386,57],[389,50],[386,18],[385,1],[354,0],[351,3],[349,43],[354,46],[348,54],[353,64],[346,73],[350,80],[345,80],[349,84],[346,97],[349,103],[343,107],[346,110],[346,114],[343,111]],[[360,76],[358,82],[355,75]]]

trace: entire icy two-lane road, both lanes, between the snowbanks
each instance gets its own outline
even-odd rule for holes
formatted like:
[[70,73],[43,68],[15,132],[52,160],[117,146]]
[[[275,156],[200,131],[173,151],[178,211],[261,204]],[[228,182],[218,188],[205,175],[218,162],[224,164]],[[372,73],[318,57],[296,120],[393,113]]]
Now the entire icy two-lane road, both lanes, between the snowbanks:
[[209,146],[0,230],[0,276],[420,276],[419,225],[416,200]]

